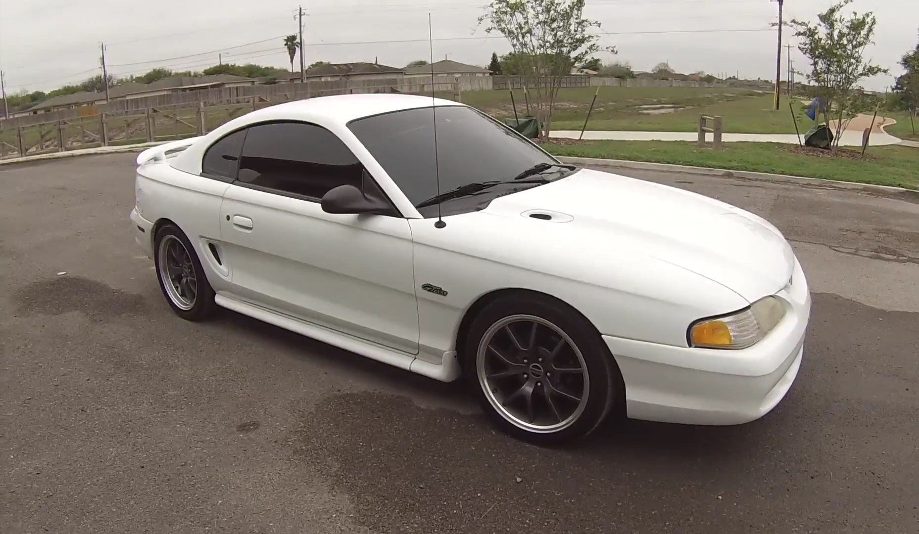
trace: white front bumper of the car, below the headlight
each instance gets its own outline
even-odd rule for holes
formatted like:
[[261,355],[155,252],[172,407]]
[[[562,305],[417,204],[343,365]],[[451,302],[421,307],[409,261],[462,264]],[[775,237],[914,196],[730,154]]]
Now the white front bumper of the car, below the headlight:
[[765,416],[789,392],[803,356],[811,293],[795,265],[776,295],[786,315],[743,350],[673,347],[604,336],[622,372],[629,417],[693,425],[738,425]]

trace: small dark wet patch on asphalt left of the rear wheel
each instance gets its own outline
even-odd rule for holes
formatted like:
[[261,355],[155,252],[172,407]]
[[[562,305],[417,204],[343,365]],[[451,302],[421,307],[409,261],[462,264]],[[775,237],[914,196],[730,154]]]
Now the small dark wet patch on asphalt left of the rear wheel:
[[17,313],[27,316],[57,316],[79,311],[87,317],[104,321],[137,315],[145,308],[142,295],[79,276],[37,280],[20,287],[13,299],[17,304]]

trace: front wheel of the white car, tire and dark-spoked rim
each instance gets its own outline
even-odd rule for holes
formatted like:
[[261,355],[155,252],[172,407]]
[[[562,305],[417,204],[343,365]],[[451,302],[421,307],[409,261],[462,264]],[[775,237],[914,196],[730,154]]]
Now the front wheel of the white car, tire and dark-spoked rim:
[[562,303],[516,295],[473,321],[465,370],[485,413],[519,439],[584,438],[618,399],[618,366],[586,318]]

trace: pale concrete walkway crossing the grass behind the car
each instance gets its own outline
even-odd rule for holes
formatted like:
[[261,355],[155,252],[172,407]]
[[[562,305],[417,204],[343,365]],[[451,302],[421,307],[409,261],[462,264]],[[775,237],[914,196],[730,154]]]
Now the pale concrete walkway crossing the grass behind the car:
[[[561,139],[578,139],[581,132],[578,130],[555,130],[550,132],[550,138]],[[860,147],[861,132],[846,130],[842,134],[840,146]],[[675,131],[599,131],[587,130],[584,132],[583,139],[611,139],[618,141],[694,141],[698,139],[696,132],[675,132]],[[709,135],[709,140],[711,136]],[[804,133],[801,132],[801,142],[804,140]],[[724,142],[737,141],[754,141],[761,143],[786,143],[797,145],[798,136],[791,134],[732,134],[725,133],[721,135]],[[900,143],[900,139],[886,133],[872,133],[868,144],[871,146],[895,145]]]

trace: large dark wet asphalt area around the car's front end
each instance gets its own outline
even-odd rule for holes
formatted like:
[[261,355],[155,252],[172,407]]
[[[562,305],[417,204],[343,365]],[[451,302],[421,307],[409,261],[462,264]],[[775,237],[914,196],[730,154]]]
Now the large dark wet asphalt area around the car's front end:
[[[481,414],[361,392],[323,398],[301,414],[291,442],[295,458],[348,495],[357,522],[381,533],[864,531],[881,517],[903,525],[915,509],[895,495],[919,490],[896,467],[914,453],[903,417],[915,370],[884,352],[914,348],[917,317],[814,295],[799,380],[748,425],[628,421],[540,449]],[[903,336],[884,348],[865,343],[881,325]],[[851,390],[854,376],[888,396]]]

